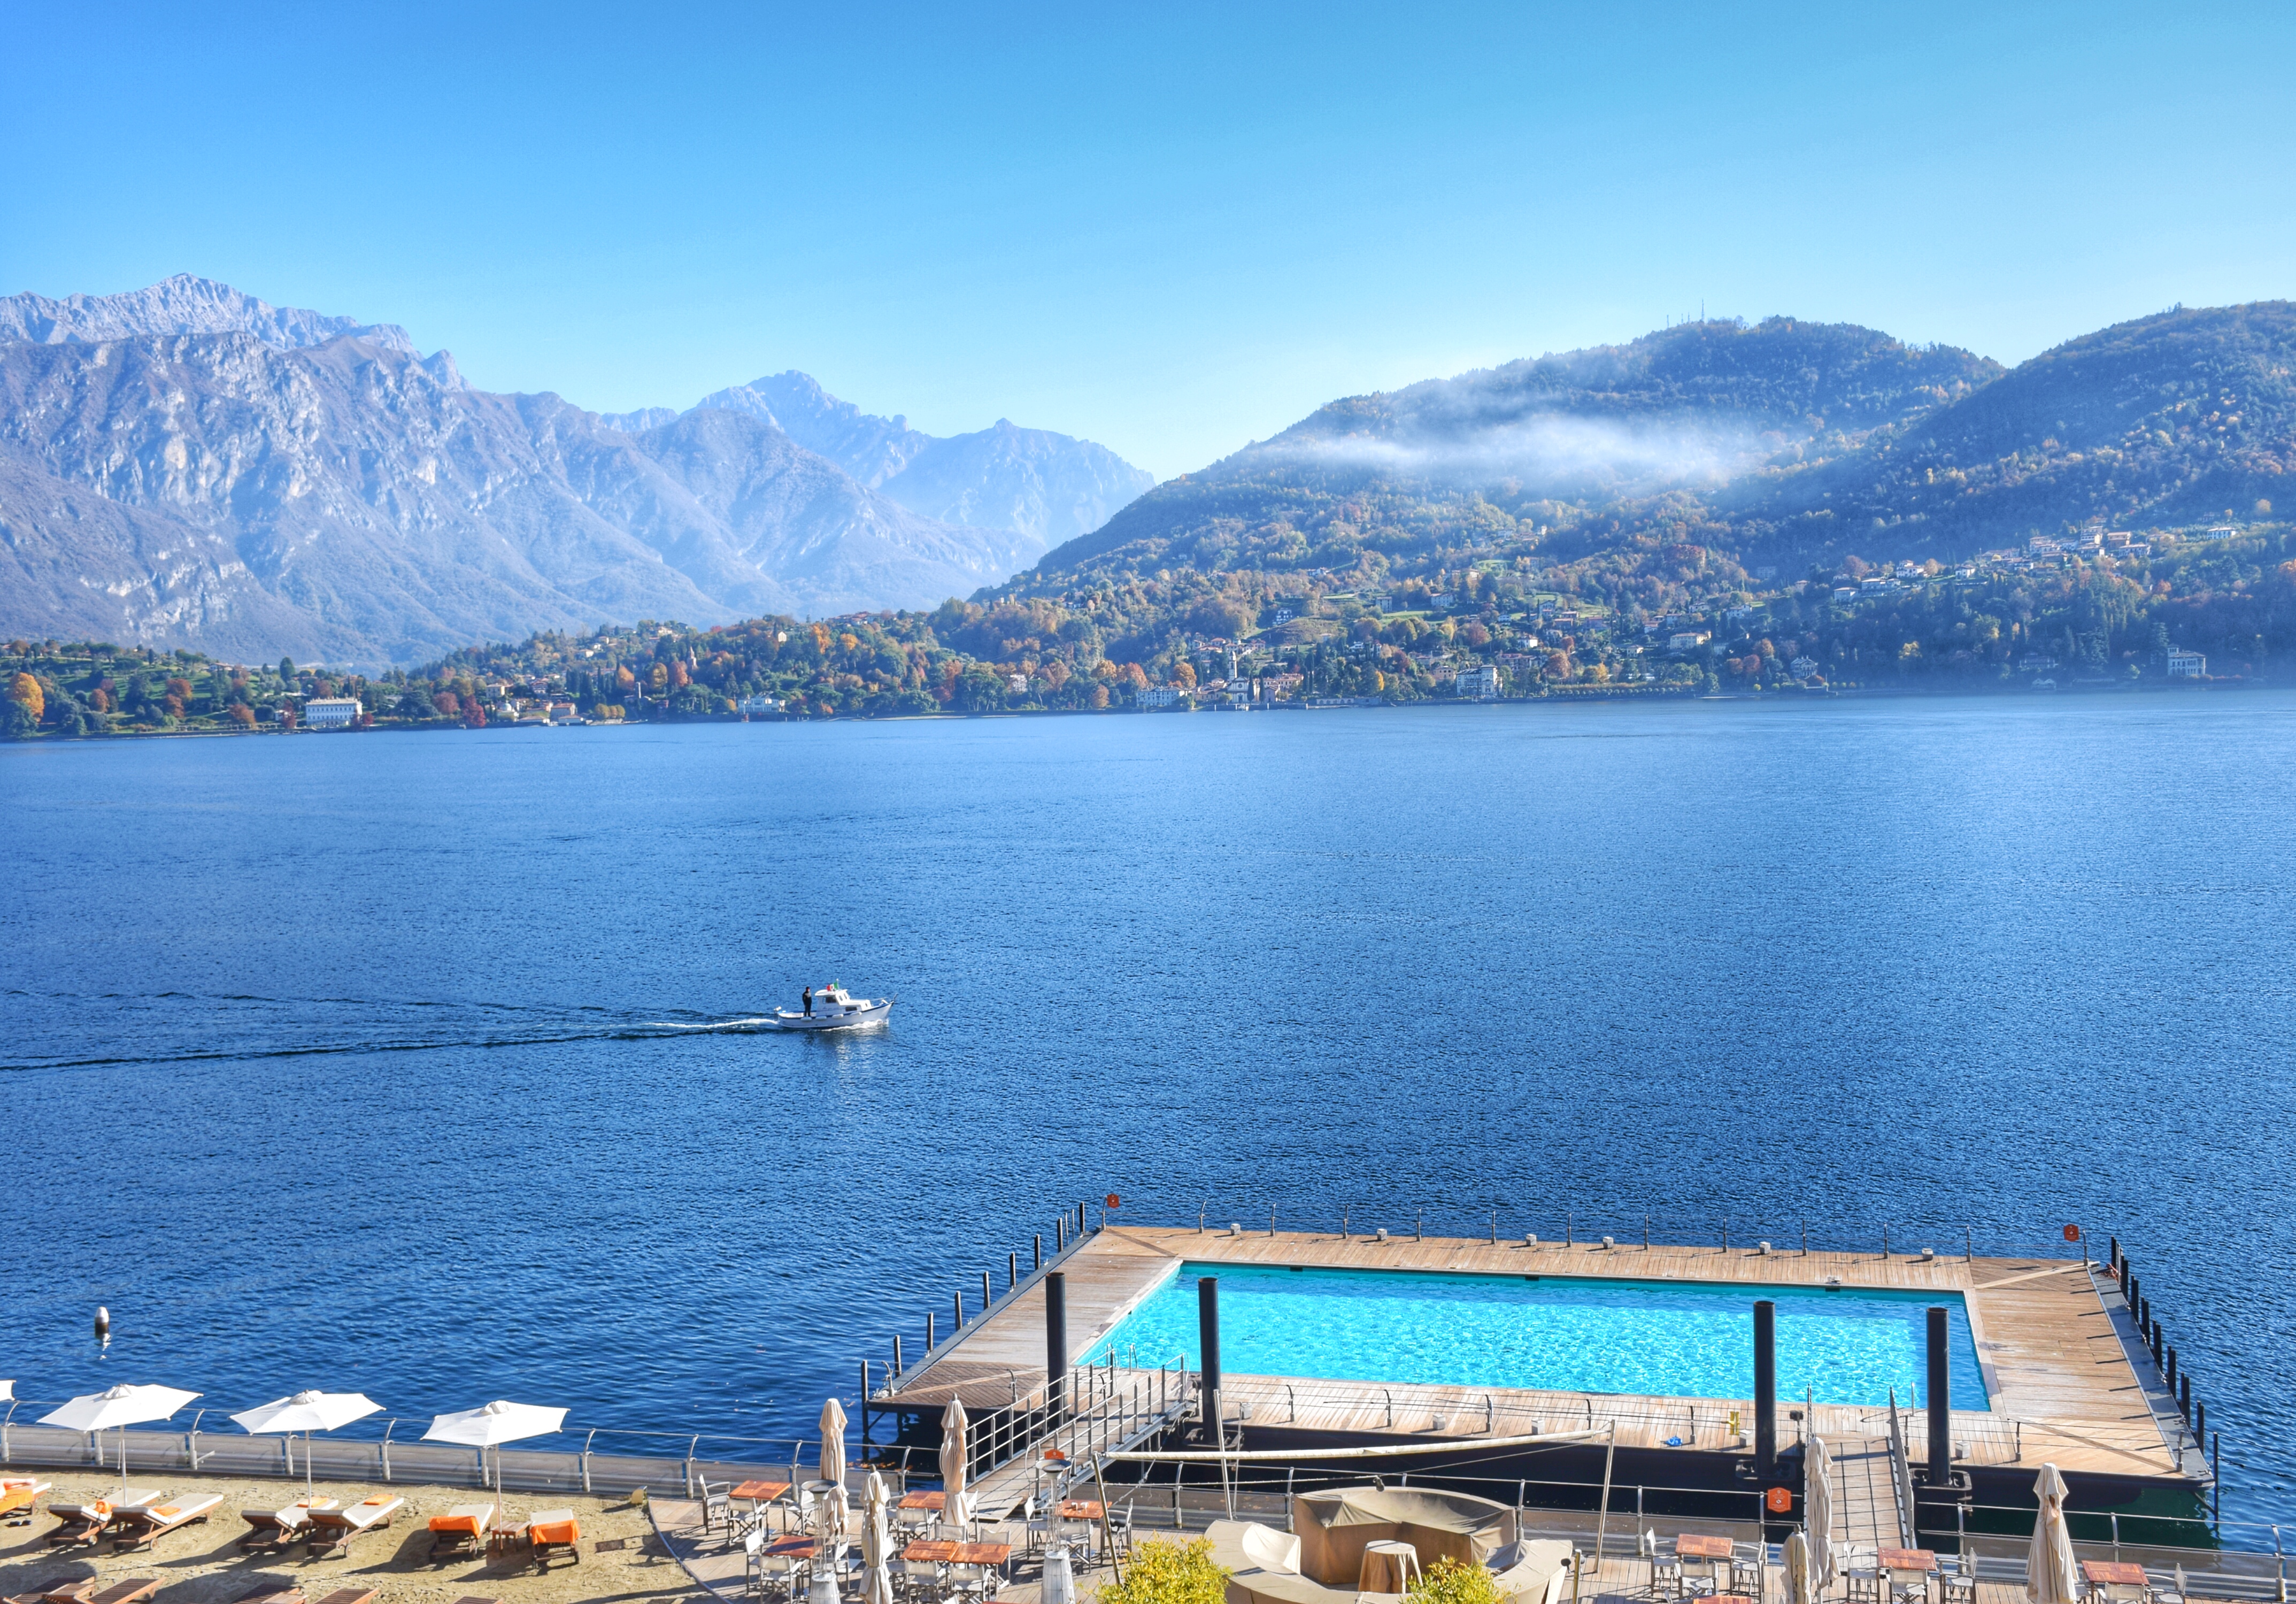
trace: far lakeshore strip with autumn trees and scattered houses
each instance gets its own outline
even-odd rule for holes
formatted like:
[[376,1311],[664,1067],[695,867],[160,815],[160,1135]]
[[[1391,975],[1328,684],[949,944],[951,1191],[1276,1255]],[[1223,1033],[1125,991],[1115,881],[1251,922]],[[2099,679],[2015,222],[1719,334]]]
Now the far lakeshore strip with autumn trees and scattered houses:
[[[2085,530],[1782,581],[1701,546],[1646,585],[1458,553],[1391,585],[1178,576],[932,613],[641,622],[416,670],[11,640],[14,739],[526,723],[1311,709],[1626,695],[2115,691],[2266,679],[2296,615],[2282,530]],[[1575,581],[1550,590],[1543,581]],[[2202,645],[2213,647],[2211,652]],[[1111,652],[1114,647],[1114,652]]]

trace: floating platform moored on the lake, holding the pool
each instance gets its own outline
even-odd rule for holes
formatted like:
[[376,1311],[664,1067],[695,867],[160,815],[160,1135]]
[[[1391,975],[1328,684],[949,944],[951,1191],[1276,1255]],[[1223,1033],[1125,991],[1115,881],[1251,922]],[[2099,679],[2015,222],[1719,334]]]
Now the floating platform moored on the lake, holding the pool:
[[[1768,1290],[1828,1283],[1857,1290],[1958,1294],[1986,1384],[1986,1409],[1952,1411],[1954,1469],[1986,1487],[1984,1503],[2023,1501],[2041,1462],[2089,1482],[2082,1503],[2117,1503],[2149,1492],[2190,1494],[2172,1501],[2197,1510],[2211,1482],[2200,1436],[2179,1414],[2174,1393],[2103,1262],[2043,1257],[1919,1257],[1906,1253],[1798,1253],[1747,1246],[1639,1246],[1564,1241],[1488,1241],[1463,1237],[1391,1237],[1339,1232],[1267,1232],[1111,1225],[1077,1239],[1045,1271],[996,1299],[916,1368],[870,1397],[879,1416],[928,1427],[948,1397],[969,1414],[1026,1418],[1042,1404],[1047,1379],[1045,1274],[1061,1271],[1068,1361],[1093,1354],[1176,1264],[1300,1267],[1352,1271],[1437,1271],[1488,1276],[1570,1276],[1676,1280],[1745,1287],[1752,1303]],[[1169,1397],[1155,1372],[1095,1368],[1070,1381],[1072,1400],[1116,1397],[1132,1388],[1150,1404]],[[1226,1441],[1251,1450],[1329,1448],[1350,1443],[1419,1443],[1426,1459],[1410,1471],[1440,1473],[1467,1462],[1479,1441],[1529,1432],[1614,1432],[1621,1482],[1653,1487],[1745,1485],[1752,1473],[1754,1400],[1573,1393],[1506,1386],[1428,1386],[1407,1381],[1334,1381],[1295,1375],[1221,1377]],[[1178,1420],[1166,1409],[1164,1427]],[[1777,1446],[1825,1436],[1837,1455],[1896,1459],[1901,1485],[1890,1494],[1910,1505],[1910,1471],[1926,1482],[1926,1434],[1913,1400],[1892,1423],[1867,1404],[1805,1407],[1777,1400]],[[1805,1416],[1793,1420],[1789,1416]],[[1896,1425],[1899,1430],[1892,1430]],[[1139,1436],[1139,1411],[1123,1416],[1088,1453]],[[1022,1430],[1026,1434],[1026,1430]],[[1017,1443],[1017,1448],[1029,1448]],[[1033,1448],[1029,1448],[1033,1453]],[[1593,1450],[1596,1457],[1603,1448]],[[1582,1455],[1584,1457],[1584,1455]],[[1548,1455],[1548,1464],[1554,1457]],[[1488,1466],[1488,1455],[1483,1457]],[[1584,1469],[1584,1466],[1577,1466]],[[1844,1464],[1848,1471],[1848,1464]],[[1508,1471],[1511,1475],[1513,1471]],[[1887,1473],[1887,1471],[1885,1471]],[[1922,1501],[1931,1494],[1924,1487]],[[1887,1535],[1885,1512],[1874,1519]],[[1903,1510],[1910,1521],[1910,1508]],[[1910,1528],[1910,1526],[1908,1526]]]

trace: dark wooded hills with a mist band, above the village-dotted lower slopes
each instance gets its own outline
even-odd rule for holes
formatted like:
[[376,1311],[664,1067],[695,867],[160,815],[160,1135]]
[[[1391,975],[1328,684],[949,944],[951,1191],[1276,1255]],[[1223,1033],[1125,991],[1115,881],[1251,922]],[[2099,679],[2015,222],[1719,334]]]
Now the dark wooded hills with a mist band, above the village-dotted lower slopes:
[[2296,307],[2172,307],[2009,369],[1851,324],[1699,321],[1332,402],[1148,491],[1008,590],[1662,544],[1800,571],[2099,519],[2280,516]]

